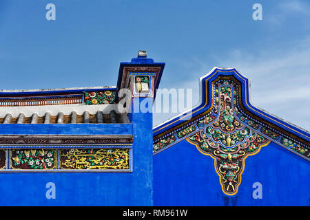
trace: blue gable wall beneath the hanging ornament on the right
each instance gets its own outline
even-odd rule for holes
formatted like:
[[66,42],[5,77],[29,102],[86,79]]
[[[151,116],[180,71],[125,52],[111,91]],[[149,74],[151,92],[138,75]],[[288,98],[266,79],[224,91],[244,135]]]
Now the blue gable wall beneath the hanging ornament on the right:
[[[154,155],[154,206],[310,206],[310,163],[271,142],[245,159],[238,193],[221,190],[214,159],[186,140]],[[254,182],[262,199],[254,199]]]

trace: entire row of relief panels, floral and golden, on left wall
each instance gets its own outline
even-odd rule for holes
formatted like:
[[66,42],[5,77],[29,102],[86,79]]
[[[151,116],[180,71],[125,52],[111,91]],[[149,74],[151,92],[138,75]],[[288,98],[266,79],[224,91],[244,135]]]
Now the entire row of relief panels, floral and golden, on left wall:
[[1,170],[129,170],[130,159],[130,148],[0,149]]

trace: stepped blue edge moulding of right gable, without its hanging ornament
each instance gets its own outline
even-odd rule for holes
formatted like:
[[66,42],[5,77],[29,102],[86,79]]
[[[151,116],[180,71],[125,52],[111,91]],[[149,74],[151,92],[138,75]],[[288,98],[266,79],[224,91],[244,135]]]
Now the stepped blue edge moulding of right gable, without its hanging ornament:
[[[291,124],[278,118],[259,107],[254,106],[251,102],[251,86],[249,78],[242,76],[235,67],[232,68],[220,68],[214,67],[211,71],[203,77],[200,77],[200,101],[199,103],[185,111],[176,115],[165,122],[154,126],[153,137],[154,137],[154,154],[159,153],[165,148],[174,145],[176,142],[189,137],[189,135],[195,133],[196,131],[202,129],[198,128],[195,124],[202,120],[208,115],[211,115],[215,107],[215,91],[214,84],[220,79],[230,80],[236,84],[238,88],[238,100],[236,107],[240,108],[240,111],[247,118],[258,122],[260,124],[260,129],[262,126],[264,129],[268,129],[271,133],[275,133],[277,137],[271,137],[271,135],[258,133],[264,135],[269,140],[276,142],[278,145],[288,149],[289,151],[300,155],[304,159],[309,160],[310,157],[310,133],[300,127]],[[239,115],[240,116],[240,115]],[[240,118],[239,118],[240,119]],[[188,129],[192,125],[192,129]],[[194,126],[193,126],[194,125]],[[208,124],[206,124],[207,126]],[[246,126],[248,126],[246,124]],[[248,126],[249,127],[249,126]],[[253,129],[249,127],[250,129]],[[178,137],[177,133],[184,131],[184,129],[189,130],[184,137]],[[193,130],[193,131],[192,131]],[[264,131],[265,131],[264,130]],[[267,131],[267,130],[266,130]],[[161,146],[156,148],[158,142],[163,142]]]

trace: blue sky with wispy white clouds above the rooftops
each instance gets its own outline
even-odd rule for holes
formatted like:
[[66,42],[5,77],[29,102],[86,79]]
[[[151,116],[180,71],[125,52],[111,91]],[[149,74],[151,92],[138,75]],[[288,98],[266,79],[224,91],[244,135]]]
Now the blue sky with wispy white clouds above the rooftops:
[[236,67],[256,106],[309,131],[309,21],[307,0],[0,0],[0,88],[116,85],[119,63],[147,50],[166,63],[160,88],[192,88],[195,105],[200,76]]

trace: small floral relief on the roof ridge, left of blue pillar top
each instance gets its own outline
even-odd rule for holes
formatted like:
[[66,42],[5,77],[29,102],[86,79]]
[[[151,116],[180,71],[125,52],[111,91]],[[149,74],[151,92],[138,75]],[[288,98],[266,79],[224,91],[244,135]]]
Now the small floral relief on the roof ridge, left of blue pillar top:
[[111,104],[115,101],[115,91],[83,91],[85,104]]

